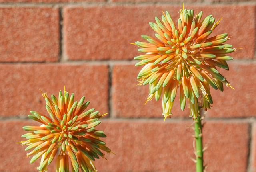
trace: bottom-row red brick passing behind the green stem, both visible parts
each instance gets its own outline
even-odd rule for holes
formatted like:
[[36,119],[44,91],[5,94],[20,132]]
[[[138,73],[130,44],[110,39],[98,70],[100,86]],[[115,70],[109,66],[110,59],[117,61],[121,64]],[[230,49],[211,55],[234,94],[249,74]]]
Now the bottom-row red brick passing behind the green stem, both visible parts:
[[[103,121],[106,144],[116,155],[96,161],[96,167],[101,172],[194,172],[190,124]],[[207,171],[246,172],[248,125],[209,122],[205,126]]]

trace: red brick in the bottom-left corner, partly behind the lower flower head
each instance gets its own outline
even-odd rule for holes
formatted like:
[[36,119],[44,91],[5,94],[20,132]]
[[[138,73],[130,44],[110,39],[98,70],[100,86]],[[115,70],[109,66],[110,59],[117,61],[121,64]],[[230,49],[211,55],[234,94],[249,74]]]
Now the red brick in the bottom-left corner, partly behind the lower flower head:
[[0,124],[2,126],[0,130],[0,151],[2,152],[0,171],[37,172],[36,167],[40,160],[30,165],[30,158],[26,156],[29,151],[24,151],[25,147],[22,147],[21,144],[16,144],[24,140],[20,137],[26,133],[22,126],[36,125],[36,123],[31,121],[1,121]]

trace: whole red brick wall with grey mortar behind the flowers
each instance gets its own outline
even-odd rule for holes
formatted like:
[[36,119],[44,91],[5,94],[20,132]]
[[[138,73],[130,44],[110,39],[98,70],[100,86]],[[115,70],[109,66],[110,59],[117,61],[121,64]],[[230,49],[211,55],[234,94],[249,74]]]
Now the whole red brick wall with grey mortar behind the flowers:
[[[135,86],[136,47],[130,42],[153,33],[148,22],[180,0],[0,0],[0,172],[35,172],[20,141],[30,110],[44,110],[38,89],[66,88],[90,107],[109,112],[101,128],[116,153],[97,160],[100,172],[193,172],[192,119],[174,107],[163,122],[161,102],[144,106],[147,86]],[[208,172],[256,170],[256,2],[188,0],[186,8],[223,17],[235,47],[226,78],[236,90],[213,92],[204,142]],[[51,172],[51,171],[50,171]]]

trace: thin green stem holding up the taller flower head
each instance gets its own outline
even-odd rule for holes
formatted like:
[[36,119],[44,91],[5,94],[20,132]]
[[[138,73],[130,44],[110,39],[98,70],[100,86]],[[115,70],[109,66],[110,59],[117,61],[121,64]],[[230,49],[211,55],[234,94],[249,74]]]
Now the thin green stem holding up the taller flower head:
[[[201,113],[201,108],[199,108]],[[202,123],[201,116],[197,117],[195,123],[195,139],[196,139],[196,172],[204,171],[204,152],[203,152],[203,136],[202,136]]]

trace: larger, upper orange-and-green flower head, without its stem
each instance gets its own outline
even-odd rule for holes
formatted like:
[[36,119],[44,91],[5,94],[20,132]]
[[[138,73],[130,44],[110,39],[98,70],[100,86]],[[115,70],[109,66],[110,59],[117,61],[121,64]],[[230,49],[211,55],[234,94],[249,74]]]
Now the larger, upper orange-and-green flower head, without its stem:
[[210,86],[221,91],[223,84],[230,86],[217,67],[229,70],[226,61],[233,58],[227,54],[236,49],[225,44],[229,39],[226,33],[210,37],[220,21],[215,22],[212,15],[202,19],[202,14],[194,16],[193,10],[183,8],[178,23],[174,23],[166,12],[162,20],[156,17],[156,23],[149,23],[156,38],[142,35],[147,42],[135,42],[138,51],[146,53],[134,58],[141,60],[135,66],[144,65],[138,74],[139,85],[149,84],[148,101],[162,96],[165,118],[172,115],[178,90],[182,111],[189,100],[191,116],[196,120],[198,98],[202,95],[207,110],[213,103]]

